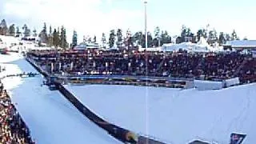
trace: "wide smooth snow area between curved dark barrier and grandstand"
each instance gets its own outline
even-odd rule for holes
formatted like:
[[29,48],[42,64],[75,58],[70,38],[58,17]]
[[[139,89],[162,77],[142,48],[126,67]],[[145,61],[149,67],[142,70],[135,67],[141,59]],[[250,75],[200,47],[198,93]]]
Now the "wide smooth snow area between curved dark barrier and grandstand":
[[256,84],[224,90],[142,86],[66,86],[91,110],[118,126],[164,142],[229,143],[232,132],[256,142]]

